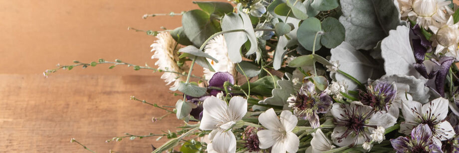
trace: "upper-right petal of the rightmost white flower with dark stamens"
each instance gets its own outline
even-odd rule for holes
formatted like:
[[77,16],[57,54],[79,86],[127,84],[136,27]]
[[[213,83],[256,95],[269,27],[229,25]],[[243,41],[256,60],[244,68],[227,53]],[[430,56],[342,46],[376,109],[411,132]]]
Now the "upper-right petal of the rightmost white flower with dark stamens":
[[424,115],[435,116],[435,121],[440,122],[448,116],[448,100],[440,97],[432,100],[432,102],[423,105]]

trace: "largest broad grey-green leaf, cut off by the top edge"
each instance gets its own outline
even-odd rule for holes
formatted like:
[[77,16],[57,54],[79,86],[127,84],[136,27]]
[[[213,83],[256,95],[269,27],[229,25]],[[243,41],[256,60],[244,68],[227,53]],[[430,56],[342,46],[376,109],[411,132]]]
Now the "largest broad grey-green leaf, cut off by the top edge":
[[394,0],[340,0],[343,15],[339,21],[346,29],[345,41],[356,49],[370,50],[401,25]]

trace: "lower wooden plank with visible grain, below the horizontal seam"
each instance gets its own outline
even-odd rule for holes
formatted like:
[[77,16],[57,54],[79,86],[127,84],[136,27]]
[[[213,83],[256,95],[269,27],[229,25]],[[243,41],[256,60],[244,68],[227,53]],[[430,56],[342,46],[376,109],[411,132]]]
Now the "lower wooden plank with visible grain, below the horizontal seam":
[[159,134],[183,125],[175,115],[152,123],[165,111],[130,96],[158,105],[175,105],[180,96],[156,76],[0,75],[0,152],[87,153],[88,148],[107,153],[150,153],[155,137],[105,143],[124,133]]

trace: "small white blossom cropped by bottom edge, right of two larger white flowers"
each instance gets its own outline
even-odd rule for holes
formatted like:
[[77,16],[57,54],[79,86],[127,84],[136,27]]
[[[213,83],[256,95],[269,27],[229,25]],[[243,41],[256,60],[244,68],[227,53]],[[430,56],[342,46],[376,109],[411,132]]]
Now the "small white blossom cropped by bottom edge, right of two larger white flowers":
[[311,135],[311,146],[306,149],[305,153],[322,153],[335,148],[331,140],[323,134],[322,130],[317,129],[317,131]]

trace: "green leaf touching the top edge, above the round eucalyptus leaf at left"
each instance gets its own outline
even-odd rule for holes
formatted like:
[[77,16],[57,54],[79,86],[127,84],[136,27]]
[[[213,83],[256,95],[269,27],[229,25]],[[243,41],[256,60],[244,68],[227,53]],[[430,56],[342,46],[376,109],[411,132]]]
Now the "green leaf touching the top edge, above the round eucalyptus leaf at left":
[[209,14],[224,15],[225,13],[232,12],[233,7],[228,2],[221,1],[193,1],[198,4],[199,8],[208,12]]

